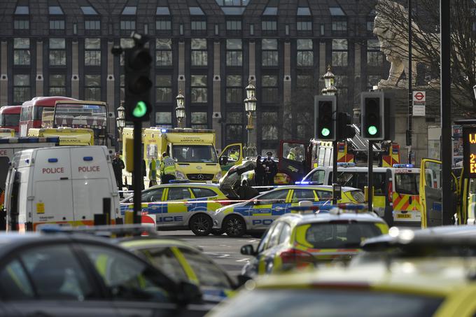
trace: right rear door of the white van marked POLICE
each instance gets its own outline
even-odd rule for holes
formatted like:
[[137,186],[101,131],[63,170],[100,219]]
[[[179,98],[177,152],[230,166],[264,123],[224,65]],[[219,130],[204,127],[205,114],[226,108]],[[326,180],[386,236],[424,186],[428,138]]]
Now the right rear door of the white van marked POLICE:
[[111,216],[114,216],[115,180],[111,179],[105,147],[87,146],[70,149],[76,225],[92,225],[94,213],[102,213],[103,198],[111,198]]

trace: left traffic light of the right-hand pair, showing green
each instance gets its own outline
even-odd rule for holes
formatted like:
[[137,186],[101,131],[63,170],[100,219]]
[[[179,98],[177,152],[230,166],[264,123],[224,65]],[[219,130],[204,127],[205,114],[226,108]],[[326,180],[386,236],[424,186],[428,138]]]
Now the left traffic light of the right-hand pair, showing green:
[[337,116],[337,99],[335,96],[316,96],[314,101],[315,122],[314,135],[323,141],[335,141]]

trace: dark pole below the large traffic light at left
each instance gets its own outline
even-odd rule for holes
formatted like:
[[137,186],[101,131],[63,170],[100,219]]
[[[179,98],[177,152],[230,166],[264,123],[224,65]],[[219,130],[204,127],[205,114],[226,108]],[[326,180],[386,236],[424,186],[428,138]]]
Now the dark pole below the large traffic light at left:
[[142,176],[142,122],[134,121],[134,171],[132,185],[134,186],[134,223],[141,223],[141,198],[144,177]]

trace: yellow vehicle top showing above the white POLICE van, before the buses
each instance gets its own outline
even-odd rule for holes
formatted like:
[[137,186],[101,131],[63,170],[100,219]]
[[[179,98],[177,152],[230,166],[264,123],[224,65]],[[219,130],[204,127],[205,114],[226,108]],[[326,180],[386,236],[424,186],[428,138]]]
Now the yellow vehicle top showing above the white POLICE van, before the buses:
[[94,131],[85,128],[58,127],[48,129],[31,128],[28,136],[59,137],[60,146],[94,146]]

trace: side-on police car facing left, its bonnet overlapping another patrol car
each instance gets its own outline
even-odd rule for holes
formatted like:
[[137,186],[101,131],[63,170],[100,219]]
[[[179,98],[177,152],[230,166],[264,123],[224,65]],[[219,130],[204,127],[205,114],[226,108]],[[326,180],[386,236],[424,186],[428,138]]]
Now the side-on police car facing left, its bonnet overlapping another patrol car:
[[[217,209],[214,213],[214,229],[222,230],[231,237],[251,234],[261,237],[276,218],[290,213],[291,206],[303,200],[316,206],[332,204],[332,186],[329,185],[288,185],[265,192],[246,202],[232,204]],[[343,187],[339,203],[363,203],[364,195],[356,188]]]

